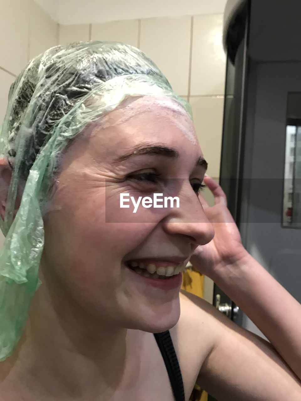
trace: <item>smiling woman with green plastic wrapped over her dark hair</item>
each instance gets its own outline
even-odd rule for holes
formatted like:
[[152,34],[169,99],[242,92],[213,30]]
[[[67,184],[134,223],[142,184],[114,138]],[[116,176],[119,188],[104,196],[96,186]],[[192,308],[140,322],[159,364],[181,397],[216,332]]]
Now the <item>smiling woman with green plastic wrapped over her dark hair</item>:
[[[0,143],[1,401],[183,401],[196,381],[218,400],[301,399],[301,306],[243,248],[189,105],[143,53],[37,57]],[[180,291],[189,259],[271,344]]]

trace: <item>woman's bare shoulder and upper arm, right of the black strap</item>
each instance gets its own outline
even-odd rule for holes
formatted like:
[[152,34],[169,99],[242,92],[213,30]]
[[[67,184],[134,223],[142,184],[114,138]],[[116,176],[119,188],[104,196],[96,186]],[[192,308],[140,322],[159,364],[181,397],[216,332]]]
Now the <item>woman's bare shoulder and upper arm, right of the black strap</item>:
[[182,291],[180,299],[171,334],[185,384],[198,363],[197,384],[219,401],[301,400],[301,382],[272,344],[193,294]]

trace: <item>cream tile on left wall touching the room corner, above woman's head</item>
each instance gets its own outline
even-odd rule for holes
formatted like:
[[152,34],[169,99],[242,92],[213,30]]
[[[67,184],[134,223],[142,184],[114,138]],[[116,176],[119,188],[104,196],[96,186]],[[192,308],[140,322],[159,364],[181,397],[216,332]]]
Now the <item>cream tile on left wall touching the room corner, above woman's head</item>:
[[34,1],[30,12],[29,59],[58,45],[59,26]]

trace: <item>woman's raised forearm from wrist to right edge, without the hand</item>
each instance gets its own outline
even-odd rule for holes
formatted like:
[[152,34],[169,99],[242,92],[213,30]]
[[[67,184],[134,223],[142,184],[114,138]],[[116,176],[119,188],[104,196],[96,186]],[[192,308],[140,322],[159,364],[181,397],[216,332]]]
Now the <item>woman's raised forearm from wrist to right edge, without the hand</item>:
[[240,261],[218,271],[216,284],[301,379],[301,304],[247,252]]

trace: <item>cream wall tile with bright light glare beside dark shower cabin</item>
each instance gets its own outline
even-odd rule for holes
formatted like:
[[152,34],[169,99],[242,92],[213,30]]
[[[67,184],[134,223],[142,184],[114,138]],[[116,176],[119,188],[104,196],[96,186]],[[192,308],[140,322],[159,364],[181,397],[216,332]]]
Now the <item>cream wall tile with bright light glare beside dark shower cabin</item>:
[[193,18],[191,95],[224,94],[226,56],[222,26],[222,14]]

